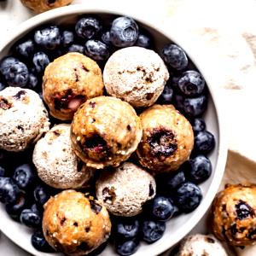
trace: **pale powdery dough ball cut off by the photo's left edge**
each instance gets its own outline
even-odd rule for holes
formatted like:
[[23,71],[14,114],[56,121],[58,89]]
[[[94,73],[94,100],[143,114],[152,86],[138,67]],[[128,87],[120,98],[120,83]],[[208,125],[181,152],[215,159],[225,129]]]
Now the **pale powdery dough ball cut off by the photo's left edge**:
[[19,87],[0,91],[0,148],[25,150],[46,131],[48,113],[36,92]]

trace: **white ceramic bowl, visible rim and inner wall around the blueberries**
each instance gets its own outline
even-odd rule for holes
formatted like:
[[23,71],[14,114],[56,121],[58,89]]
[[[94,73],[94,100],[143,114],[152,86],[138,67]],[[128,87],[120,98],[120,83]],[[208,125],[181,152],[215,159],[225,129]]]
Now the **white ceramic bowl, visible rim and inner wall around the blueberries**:
[[[113,15],[128,15],[132,16],[129,13],[119,12],[119,10],[99,8],[95,6],[85,5],[73,5],[60,9],[54,9],[42,15],[37,15],[30,20],[22,23],[19,27],[11,33],[11,36],[6,40],[2,46],[0,46],[0,59],[9,53],[11,46],[17,41],[17,39],[24,36],[27,32],[32,31],[36,26],[40,26],[47,23],[54,24],[65,24],[65,23],[74,23],[78,20],[79,15],[86,14],[97,14],[102,16],[103,20],[109,20]],[[183,49],[186,48],[185,42],[176,42],[175,38],[172,37],[172,34],[162,31],[161,27],[158,27],[157,24],[150,24],[147,20],[142,20],[140,17],[133,16],[135,20],[138,21],[140,26],[145,27],[148,32],[150,32],[156,44],[157,49],[172,41],[176,44],[179,44]],[[188,55],[189,52],[187,51]],[[223,135],[223,123],[220,119],[218,103],[216,96],[214,96],[214,90],[211,85],[211,81],[207,80],[207,77],[204,75],[204,69],[201,67],[201,63],[198,63],[193,55],[189,55],[189,58],[195,63],[195,66],[200,70],[202,75],[207,81],[209,87],[209,102],[207,113],[205,113],[205,119],[207,122],[207,130],[211,131],[216,139],[216,146],[212,153],[209,155],[210,160],[212,161],[212,176],[207,179],[205,183],[200,185],[203,192],[203,200],[199,207],[195,209],[194,212],[189,214],[183,214],[177,218],[172,218],[169,222],[166,223],[166,232],[164,236],[157,242],[152,245],[147,245],[142,242],[142,245],[139,247],[137,253],[133,254],[134,256],[148,256],[148,255],[157,255],[163,253],[168,248],[172,247],[177,241],[180,241],[183,236],[186,236],[190,230],[193,229],[195,224],[197,224],[205,212],[207,212],[208,207],[210,206],[214,195],[218,191],[218,186],[221,182],[221,179],[224,174],[224,164],[226,160],[227,149],[225,146],[225,138]],[[53,255],[51,253],[40,253],[35,250],[31,245],[31,234],[32,231],[27,229],[21,224],[17,224],[15,221],[9,218],[8,214],[5,212],[3,205],[0,206],[0,229],[3,233],[8,236],[12,241],[17,245],[25,249],[27,252],[34,255]],[[57,253],[54,255],[59,255]],[[115,255],[113,248],[108,247],[102,253],[102,255]]]

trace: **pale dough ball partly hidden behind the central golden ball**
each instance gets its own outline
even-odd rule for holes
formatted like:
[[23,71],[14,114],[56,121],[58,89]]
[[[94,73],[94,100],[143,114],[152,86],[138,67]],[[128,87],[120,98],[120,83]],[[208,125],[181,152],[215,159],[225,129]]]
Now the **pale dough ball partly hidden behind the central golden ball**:
[[76,189],[93,176],[73,152],[70,125],[55,125],[36,144],[33,163],[38,177],[57,189]]

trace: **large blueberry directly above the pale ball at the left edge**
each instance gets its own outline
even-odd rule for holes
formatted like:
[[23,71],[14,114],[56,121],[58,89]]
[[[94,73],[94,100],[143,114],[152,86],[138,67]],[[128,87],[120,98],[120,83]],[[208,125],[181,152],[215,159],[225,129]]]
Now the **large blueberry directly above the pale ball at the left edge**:
[[28,69],[21,61],[16,61],[9,67],[9,73],[5,74],[5,80],[9,86],[24,87],[28,81]]

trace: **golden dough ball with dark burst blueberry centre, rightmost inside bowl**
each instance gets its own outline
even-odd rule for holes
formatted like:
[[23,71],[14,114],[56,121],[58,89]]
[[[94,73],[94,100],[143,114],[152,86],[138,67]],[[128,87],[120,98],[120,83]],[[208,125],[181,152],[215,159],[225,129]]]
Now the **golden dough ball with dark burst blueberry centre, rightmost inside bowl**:
[[189,121],[172,105],[154,105],[141,113],[143,138],[137,148],[141,165],[152,172],[178,169],[194,146]]

